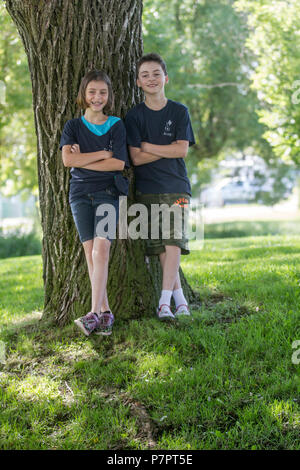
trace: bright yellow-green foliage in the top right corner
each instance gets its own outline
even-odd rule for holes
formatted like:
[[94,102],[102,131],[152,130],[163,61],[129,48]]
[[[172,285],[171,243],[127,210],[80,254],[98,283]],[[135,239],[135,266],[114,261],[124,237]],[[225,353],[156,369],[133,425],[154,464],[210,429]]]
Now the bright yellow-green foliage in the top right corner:
[[256,55],[253,89],[261,101],[260,121],[277,156],[300,161],[300,4],[297,0],[238,0],[247,12],[251,35],[247,45]]

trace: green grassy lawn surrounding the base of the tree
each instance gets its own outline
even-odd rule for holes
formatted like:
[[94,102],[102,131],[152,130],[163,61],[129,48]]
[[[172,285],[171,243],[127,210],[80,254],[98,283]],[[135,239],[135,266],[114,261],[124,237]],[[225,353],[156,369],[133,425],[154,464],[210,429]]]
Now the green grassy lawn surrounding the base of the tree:
[[86,339],[38,321],[39,256],[1,261],[1,449],[300,449],[299,239],[209,240],[182,265],[193,318]]

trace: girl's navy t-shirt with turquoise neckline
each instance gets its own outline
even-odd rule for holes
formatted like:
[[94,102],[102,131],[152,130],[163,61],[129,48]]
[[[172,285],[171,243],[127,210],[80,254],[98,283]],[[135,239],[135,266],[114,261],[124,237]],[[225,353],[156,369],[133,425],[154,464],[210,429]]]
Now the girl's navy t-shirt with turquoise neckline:
[[[84,116],[67,121],[60,139],[59,148],[78,144],[81,153],[108,150],[113,158],[125,161],[129,166],[126,130],[123,121],[109,116],[104,124],[88,122]],[[84,158],[84,157],[83,157]],[[101,191],[114,184],[114,176],[121,171],[96,171],[86,168],[71,168],[69,201],[85,194]]]

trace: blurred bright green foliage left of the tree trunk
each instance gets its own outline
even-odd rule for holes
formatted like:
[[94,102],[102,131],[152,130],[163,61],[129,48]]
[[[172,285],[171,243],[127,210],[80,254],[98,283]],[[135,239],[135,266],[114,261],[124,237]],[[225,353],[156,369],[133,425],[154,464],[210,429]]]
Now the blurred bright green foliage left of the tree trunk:
[[18,31],[0,4],[0,182],[5,195],[37,193],[36,137],[27,57]]

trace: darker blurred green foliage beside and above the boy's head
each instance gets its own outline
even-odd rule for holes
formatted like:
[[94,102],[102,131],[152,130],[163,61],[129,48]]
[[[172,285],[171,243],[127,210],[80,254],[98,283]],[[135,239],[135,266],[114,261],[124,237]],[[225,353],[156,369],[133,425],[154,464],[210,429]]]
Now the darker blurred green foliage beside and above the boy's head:
[[167,94],[185,103],[192,115],[197,145],[190,169],[225,148],[262,147],[270,156],[256,114],[256,93],[250,89],[254,55],[245,47],[247,22],[232,3],[144,2],[145,52],[157,51],[165,58]]

